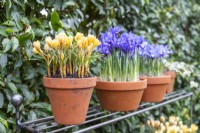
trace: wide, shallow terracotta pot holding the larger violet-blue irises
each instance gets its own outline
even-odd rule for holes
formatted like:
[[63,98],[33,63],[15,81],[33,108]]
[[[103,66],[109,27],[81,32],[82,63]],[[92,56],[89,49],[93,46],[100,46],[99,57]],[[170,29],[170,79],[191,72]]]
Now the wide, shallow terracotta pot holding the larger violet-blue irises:
[[147,80],[137,82],[97,81],[96,93],[102,108],[110,111],[130,111],[137,109]]

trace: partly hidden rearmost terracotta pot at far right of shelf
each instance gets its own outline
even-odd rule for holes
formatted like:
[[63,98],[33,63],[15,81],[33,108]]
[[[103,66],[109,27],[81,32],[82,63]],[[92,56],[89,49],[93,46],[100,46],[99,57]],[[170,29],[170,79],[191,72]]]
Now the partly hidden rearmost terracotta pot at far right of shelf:
[[167,93],[172,93],[174,90],[174,82],[176,78],[176,71],[165,71],[165,75],[170,75],[171,76],[171,82],[167,88]]

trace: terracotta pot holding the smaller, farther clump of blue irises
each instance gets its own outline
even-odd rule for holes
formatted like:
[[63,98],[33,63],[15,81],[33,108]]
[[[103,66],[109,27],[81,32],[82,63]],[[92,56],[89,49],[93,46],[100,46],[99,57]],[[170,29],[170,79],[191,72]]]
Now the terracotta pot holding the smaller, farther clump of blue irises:
[[147,88],[145,89],[142,102],[160,102],[163,100],[168,85],[171,81],[169,75],[164,75],[160,77],[146,77],[147,78]]

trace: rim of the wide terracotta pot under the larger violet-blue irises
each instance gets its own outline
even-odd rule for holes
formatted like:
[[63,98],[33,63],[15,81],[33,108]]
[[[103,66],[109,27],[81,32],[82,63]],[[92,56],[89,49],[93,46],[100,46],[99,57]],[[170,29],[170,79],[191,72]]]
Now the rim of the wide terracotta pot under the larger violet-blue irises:
[[132,91],[143,90],[147,87],[147,79],[130,82],[97,81],[95,89],[107,91]]

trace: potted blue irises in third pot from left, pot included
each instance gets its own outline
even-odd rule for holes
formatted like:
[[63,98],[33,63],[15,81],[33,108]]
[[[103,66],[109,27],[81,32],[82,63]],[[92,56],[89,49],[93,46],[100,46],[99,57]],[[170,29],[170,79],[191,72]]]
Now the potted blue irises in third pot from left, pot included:
[[147,79],[147,88],[142,96],[143,102],[160,102],[163,100],[171,82],[170,75],[164,75],[162,60],[172,53],[167,46],[146,43],[139,49],[142,56],[141,72]]

